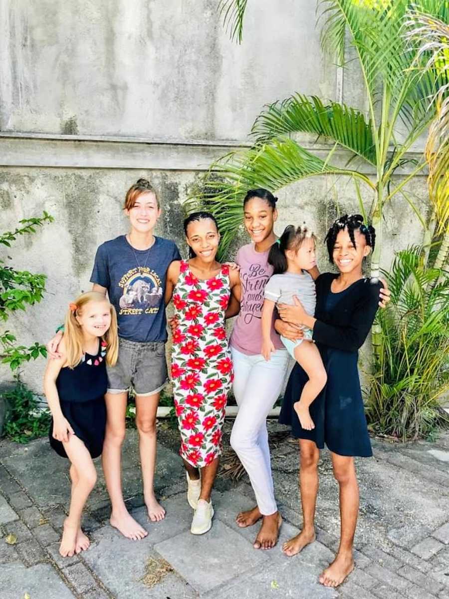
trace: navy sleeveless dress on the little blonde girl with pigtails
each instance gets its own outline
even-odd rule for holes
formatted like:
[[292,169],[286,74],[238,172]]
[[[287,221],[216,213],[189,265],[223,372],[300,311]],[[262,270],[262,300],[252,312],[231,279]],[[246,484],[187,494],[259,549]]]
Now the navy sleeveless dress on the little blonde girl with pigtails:
[[[75,368],[61,368],[56,388],[63,415],[84,442],[92,458],[98,458],[103,449],[106,428],[104,395],[108,388],[105,341],[98,344],[95,356],[85,353]],[[62,441],[53,437],[53,419],[50,423],[50,445],[62,458],[67,458]]]

